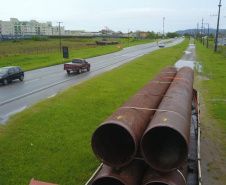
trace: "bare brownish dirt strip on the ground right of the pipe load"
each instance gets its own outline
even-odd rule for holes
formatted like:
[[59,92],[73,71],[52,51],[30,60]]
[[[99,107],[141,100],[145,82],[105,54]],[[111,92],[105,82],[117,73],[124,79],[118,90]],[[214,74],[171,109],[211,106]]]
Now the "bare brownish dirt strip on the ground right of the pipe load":
[[210,117],[206,102],[202,94],[201,81],[206,77],[195,76],[195,87],[199,91],[200,116],[201,116],[201,168],[203,185],[226,184],[226,160],[223,154],[223,140],[225,131],[219,128],[217,120]]

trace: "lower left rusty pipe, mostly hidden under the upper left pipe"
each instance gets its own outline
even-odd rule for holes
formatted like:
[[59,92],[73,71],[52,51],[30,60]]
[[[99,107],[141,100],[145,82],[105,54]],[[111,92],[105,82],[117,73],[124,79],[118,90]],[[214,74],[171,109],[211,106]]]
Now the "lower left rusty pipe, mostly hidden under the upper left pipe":
[[103,165],[92,185],[140,185],[145,170],[146,164],[143,160],[133,160],[121,168]]

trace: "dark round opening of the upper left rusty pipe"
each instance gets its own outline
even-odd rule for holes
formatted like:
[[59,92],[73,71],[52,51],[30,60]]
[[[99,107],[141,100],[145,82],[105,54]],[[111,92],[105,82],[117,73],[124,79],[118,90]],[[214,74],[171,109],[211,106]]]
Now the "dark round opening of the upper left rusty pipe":
[[103,163],[119,167],[135,155],[135,143],[130,133],[117,124],[100,126],[92,137],[93,152]]

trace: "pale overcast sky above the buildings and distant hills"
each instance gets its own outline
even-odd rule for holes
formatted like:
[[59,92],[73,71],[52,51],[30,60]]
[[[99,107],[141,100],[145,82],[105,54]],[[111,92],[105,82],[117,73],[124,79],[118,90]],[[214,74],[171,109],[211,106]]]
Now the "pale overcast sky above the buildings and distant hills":
[[[165,32],[217,27],[219,0],[4,0],[0,20],[51,21],[66,30]],[[226,28],[226,1],[221,2],[220,28]],[[207,27],[207,24],[205,25]]]

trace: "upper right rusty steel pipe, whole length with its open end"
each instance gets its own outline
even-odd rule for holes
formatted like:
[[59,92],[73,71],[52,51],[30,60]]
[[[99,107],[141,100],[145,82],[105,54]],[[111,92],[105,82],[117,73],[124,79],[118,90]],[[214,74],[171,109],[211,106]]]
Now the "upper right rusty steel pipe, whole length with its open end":
[[146,163],[160,172],[173,171],[188,156],[193,70],[181,68],[141,139]]

